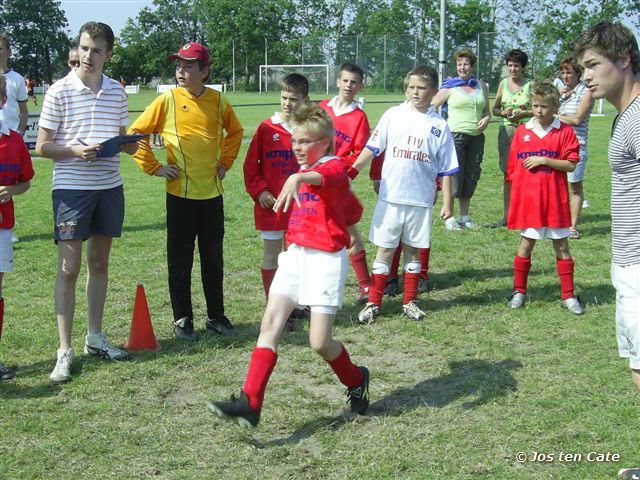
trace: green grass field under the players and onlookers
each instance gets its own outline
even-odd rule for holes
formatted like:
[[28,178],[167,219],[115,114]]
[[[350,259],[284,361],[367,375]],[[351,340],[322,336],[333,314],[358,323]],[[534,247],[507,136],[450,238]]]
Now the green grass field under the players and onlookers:
[[[152,94],[131,96],[141,110]],[[380,100],[398,100],[387,97]],[[371,98],[371,101],[374,99]],[[236,105],[276,98],[232,96]],[[388,104],[371,102],[371,122]],[[275,106],[238,107],[248,136]],[[137,114],[132,114],[131,119]],[[15,272],[5,276],[5,332],[0,358],[17,371],[0,384],[0,478],[274,478],[274,479],[608,479],[640,465],[638,395],[617,356],[615,293],[609,280],[611,116],[590,128],[583,238],[571,242],[582,317],[559,306],[553,248],[533,254],[531,301],[509,311],[518,235],[505,229],[447,232],[434,221],[431,282],[422,322],[399,315],[401,299],[385,301],[376,323],[357,324],[353,274],[336,337],[371,371],[366,417],[349,419],[344,389],[308,347],[307,328],[287,334],[256,430],[223,423],[205,407],[242,385],[264,308],[261,241],[244,192],[242,159],[225,180],[225,296],[239,327],[233,339],[204,333],[174,339],[166,285],[164,187],[122,156],[127,213],[114,242],[105,330],[128,336],[136,284],[145,285],[159,353],[108,364],[80,354],[86,305],[79,281],[73,380],[49,382],[57,333],[53,313],[56,248],[51,240],[51,161],[35,159],[32,189],[17,199]],[[480,224],[499,218],[501,174],[497,123],[487,133],[484,172],[472,203]],[[157,151],[163,155],[162,151]],[[361,175],[354,189],[375,203]],[[374,248],[367,246],[369,260]],[[197,327],[204,301],[193,281]],[[520,463],[519,452],[527,459]],[[589,452],[619,455],[595,461]],[[566,454],[581,454],[569,461]],[[543,455],[545,457],[543,457]]]

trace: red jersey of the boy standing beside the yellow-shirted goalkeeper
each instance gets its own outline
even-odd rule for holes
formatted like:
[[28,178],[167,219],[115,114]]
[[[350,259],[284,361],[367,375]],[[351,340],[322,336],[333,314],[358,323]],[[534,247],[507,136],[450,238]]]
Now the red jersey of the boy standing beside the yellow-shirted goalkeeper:
[[255,202],[253,216],[256,230],[286,230],[289,214],[262,208],[260,194],[269,191],[278,197],[289,175],[297,173],[298,162],[291,150],[291,127],[275,113],[262,122],[251,139],[244,159],[244,184]]

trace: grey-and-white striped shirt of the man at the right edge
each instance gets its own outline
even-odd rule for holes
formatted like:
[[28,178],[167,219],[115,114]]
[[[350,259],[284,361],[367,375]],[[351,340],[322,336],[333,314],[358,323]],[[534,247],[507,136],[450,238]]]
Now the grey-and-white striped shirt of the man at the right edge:
[[613,263],[640,264],[640,95],[613,123],[611,166],[611,237]]

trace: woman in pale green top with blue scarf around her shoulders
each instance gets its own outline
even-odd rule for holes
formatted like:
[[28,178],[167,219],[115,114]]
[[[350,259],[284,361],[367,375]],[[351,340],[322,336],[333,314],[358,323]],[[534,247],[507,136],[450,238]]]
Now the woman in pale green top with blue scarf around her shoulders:
[[453,132],[460,170],[453,176],[453,194],[460,205],[460,217],[446,222],[447,230],[475,228],[469,217],[469,205],[480,179],[484,155],[484,130],[489,125],[489,89],[471,73],[476,56],[471,50],[454,54],[458,77],[447,80],[433,99],[436,108],[449,105],[447,123]]

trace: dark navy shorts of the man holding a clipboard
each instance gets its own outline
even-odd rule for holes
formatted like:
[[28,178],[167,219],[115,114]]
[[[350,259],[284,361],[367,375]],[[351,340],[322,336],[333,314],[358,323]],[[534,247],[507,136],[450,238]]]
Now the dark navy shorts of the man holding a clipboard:
[[53,238],[119,237],[124,223],[122,185],[107,190],[53,190]]

